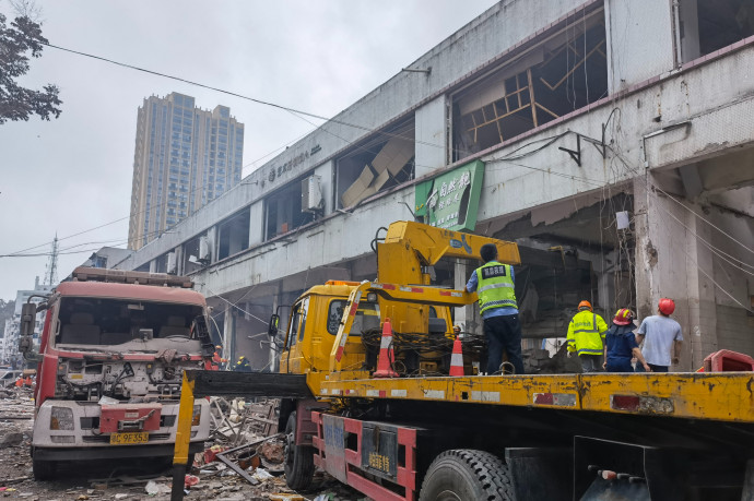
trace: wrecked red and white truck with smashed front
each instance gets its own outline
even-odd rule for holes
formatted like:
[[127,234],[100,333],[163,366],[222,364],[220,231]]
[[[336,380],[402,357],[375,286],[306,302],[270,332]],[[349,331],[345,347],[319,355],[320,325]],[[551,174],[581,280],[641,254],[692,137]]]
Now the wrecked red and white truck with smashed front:
[[[78,267],[39,306],[22,310],[20,350],[35,359],[34,477],[69,461],[154,457],[174,451],[184,369],[214,350],[204,297],[189,278]],[[46,309],[39,353],[32,335]],[[195,401],[190,452],[210,432],[209,404]]]

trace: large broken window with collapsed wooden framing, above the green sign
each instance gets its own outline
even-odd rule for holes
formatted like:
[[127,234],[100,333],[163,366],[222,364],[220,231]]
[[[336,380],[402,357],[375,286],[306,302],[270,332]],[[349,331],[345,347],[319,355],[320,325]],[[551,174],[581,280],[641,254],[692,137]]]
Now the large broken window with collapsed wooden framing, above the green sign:
[[452,96],[453,160],[608,94],[603,11],[598,10]]

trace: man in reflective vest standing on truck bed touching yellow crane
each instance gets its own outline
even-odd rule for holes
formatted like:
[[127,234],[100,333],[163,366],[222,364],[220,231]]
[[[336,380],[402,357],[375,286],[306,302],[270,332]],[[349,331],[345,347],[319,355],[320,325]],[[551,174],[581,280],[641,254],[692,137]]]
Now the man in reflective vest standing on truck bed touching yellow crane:
[[474,270],[464,290],[479,288],[479,308],[487,339],[487,374],[494,374],[503,362],[503,350],[517,374],[523,373],[521,360],[521,324],[514,286],[514,267],[497,262],[497,248],[485,243],[480,251],[484,265]]

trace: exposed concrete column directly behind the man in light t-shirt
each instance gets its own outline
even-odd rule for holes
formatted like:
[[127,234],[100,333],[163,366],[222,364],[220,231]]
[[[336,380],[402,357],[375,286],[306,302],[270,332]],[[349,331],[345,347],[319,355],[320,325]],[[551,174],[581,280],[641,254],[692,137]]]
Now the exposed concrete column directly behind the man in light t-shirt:
[[697,225],[693,205],[645,186],[643,178],[634,180],[638,318],[656,314],[660,298],[672,298],[672,318],[684,337],[681,363],[673,369],[697,369],[717,347],[715,289],[705,275],[712,276],[712,255],[693,234],[708,240],[709,231]]

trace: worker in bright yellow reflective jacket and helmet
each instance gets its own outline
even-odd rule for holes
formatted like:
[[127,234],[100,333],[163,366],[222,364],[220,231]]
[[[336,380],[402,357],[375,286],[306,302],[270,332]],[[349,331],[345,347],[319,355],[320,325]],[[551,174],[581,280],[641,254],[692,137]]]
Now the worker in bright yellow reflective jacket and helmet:
[[568,357],[578,354],[584,372],[594,372],[602,365],[600,357],[604,349],[608,324],[592,311],[589,301],[579,302],[578,310],[568,324]]

